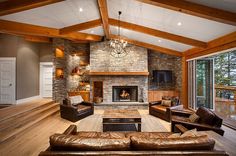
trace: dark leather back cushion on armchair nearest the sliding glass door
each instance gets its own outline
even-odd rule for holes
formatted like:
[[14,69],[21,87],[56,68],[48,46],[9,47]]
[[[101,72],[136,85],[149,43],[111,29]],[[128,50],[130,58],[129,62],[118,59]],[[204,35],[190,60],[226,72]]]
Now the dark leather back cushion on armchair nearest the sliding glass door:
[[200,107],[198,108],[196,114],[200,117],[199,118],[199,123],[205,123],[205,124],[208,124],[208,125],[213,125],[213,120],[215,118],[215,114],[205,108],[205,107]]

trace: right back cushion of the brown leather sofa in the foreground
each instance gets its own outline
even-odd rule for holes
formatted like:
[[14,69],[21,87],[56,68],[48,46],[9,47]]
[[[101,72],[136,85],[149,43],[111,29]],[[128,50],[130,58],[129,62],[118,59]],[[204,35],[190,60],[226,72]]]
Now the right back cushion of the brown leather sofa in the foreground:
[[131,146],[136,150],[212,150],[215,141],[206,135],[188,138],[142,138],[131,137]]

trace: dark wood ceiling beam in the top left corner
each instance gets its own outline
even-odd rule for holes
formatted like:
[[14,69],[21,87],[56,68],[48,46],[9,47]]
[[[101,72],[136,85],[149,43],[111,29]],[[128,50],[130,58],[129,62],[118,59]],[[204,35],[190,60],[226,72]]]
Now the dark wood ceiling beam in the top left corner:
[[0,3],[0,16],[29,10],[64,0],[11,0]]

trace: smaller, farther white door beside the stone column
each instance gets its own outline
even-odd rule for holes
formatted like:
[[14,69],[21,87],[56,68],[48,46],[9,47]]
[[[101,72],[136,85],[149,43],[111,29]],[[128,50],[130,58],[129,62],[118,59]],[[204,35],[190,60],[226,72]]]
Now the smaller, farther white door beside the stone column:
[[44,98],[52,97],[52,76],[53,63],[40,63],[40,96]]

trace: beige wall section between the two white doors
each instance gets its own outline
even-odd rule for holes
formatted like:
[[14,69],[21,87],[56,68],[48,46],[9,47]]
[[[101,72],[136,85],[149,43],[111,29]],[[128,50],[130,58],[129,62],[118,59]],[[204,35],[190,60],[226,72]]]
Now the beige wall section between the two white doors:
[[0,34],[0,57],[16,57],[16,99],[39,95],[39,45]]

